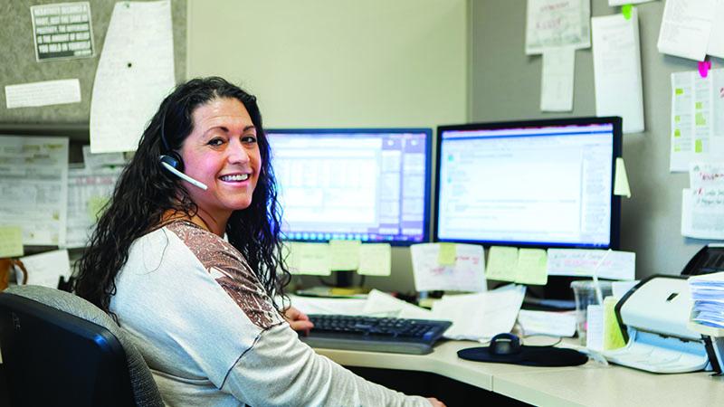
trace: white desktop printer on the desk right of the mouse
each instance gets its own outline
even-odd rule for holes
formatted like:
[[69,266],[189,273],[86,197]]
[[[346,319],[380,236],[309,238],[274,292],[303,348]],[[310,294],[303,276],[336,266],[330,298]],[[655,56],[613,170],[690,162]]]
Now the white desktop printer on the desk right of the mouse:
[[710,369],[704,336],[689,329],[691,295],[685,277],[643,279],[616,304],[626,345],[605,351],[614,364],[653,373]]

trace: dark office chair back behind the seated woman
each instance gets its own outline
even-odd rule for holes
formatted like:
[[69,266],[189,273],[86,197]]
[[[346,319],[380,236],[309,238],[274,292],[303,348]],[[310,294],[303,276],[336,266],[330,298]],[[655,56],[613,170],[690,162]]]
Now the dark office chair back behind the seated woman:
[[0,292],[0,352],[10,405],[164,405],[128,334],[69,292]]

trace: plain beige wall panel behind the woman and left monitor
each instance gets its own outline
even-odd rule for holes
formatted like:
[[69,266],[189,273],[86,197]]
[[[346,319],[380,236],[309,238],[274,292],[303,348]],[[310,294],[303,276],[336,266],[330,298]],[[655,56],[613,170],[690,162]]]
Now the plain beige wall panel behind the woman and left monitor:
[[[187,75],[257,95],[268,128],[429,127],[468,112],[467,0],[189,0]],[[409,250],[378,289],[412,291]]]

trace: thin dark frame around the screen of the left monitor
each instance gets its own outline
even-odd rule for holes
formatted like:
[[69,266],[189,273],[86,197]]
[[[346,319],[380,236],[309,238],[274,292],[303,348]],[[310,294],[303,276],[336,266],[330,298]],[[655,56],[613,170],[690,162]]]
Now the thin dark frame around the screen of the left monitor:
[[[264,137],[267,138],[267,142],[270,146],[271,155],[273,156],[273,149],[271,142],[269,141],[268,134],[359,134],[359,133],[390,133],[390,134],[405,134],[405,133],[424,133],[424,208],[423,208],[423,240],[422,241],[362,241],[363,243],[389,243],[391,246],[408,247],[413,244],[425,243],[430,241],[430,200],[432,194],[432,164],[433,164],[433,129],[432,128],[264,128]],[[282,214],[283,216],[283,214]],[[283,220],[283,219],[282,219]],[[308,242],[319,242],[323,243],[328,240],[303,240],[303,239],[287,239],[283,237],[284,241],[308,241]]]

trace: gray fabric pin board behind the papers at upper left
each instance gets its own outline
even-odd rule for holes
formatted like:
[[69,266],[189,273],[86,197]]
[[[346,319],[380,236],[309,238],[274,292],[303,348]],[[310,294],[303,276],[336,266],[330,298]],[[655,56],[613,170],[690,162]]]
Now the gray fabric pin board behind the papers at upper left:
[[[90,1],[95,53],[90,58],[37,62],[34,52],[31,5],[62,3],[62,0],[13,0],[0,3],[0,127],[33,124],[78,125],[90,117],[90,95],[96,67],[103,51],[114,0]],[[72,3],[72,2],[67,2]],[[186,0],[171,1],[174,30],[176,82],[186,79]],[[81,102],[38,108],[7,109],[5,86],[42,80],[78,79]],[[87,137],[87,136],[86,136]]]

